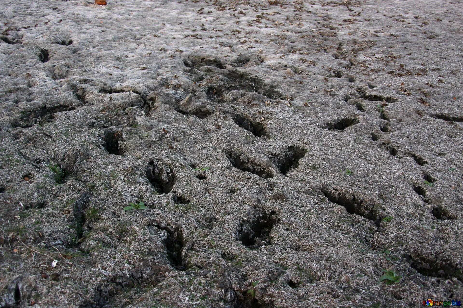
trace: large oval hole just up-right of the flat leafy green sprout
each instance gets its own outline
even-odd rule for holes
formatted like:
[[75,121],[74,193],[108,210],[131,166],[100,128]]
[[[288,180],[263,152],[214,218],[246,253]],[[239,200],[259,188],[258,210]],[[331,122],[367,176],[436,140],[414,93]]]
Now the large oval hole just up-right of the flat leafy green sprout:
[[146,177],[157,193],[170,193],[175,184],[174,170],[158,160],[150,160],[146,166]]

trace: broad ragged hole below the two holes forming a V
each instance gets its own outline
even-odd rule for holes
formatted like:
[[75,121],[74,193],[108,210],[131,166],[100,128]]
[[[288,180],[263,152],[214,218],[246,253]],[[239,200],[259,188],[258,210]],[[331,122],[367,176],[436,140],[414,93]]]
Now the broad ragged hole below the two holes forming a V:
[[243,220],[238,228],[238,240],[250,249],[271,245],[270,231],[277,222],[275,211],[256,213],[255,217]]

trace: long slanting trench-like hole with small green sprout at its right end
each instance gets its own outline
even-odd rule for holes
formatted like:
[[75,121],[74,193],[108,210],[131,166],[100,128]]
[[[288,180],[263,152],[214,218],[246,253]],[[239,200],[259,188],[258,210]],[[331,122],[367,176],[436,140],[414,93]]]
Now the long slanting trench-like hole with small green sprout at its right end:
[[329,188],[324,188],[322,192],[325,194],[325,197],[328,198],[328,200],[330,200],[332,203],[344,206],[348,213],[357,214],[373,220],[376,226],[379,227],[381,223],[381,219],[377,212],[379,204],[377,204],[374,200],[358,198],[355,195],[350,195]]

